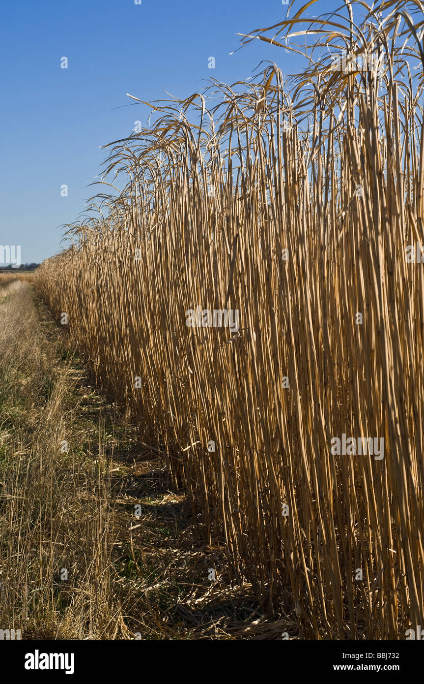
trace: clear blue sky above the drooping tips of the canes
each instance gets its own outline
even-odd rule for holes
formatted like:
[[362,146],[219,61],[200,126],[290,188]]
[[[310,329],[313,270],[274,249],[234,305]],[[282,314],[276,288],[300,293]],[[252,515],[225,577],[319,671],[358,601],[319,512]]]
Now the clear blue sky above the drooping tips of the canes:
[[[330,11],[341,1],[319,4]],[[186,97],[206,86],[202,79],[249,77],[261,60],[293,73],[292,55],[259,40],[229,55],[240,44],[236,33],[270,26],[286,12],[281,0],[3,3],[0,244],[21,245],[22,263],[60,250],[59,226],[95,193],[87,184],[104,159],[100,146],[147,121],[145,105],[122,107],[131,102],[127,92],[147,101],[167,97],[165,90]],[[60,67],[63,56],[68,69]]]

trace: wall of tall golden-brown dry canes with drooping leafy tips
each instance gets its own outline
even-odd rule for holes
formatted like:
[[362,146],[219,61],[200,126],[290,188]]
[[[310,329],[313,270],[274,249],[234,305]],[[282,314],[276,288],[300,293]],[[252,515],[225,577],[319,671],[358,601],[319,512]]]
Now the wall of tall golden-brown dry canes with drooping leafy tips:
[[[320,639],[403,638],[424,616],[424,274],[406,260],[424,244],[422,5],[356,27],[356,4],[258,35],[295,49],[281,32],[316,29],[315,49],[384,55],[381,74],[307,50],[287,83],[272,65],[156,105],[36,274],[232,576]],[[197,305],[237,309],[240,330],[188,328]],[[384,458],[333,455],[343,434],[384,438]]]

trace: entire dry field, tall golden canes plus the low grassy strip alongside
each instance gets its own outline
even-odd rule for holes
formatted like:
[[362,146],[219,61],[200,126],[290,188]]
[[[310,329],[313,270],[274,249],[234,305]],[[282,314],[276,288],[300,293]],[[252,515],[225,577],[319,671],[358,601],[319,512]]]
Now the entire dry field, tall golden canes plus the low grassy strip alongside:
[[306,9],[242,38],[302,73],[155,103],[1,289],[1,601],[33,635],[424,624],[423,6]]

